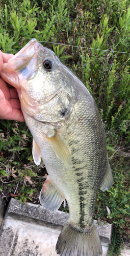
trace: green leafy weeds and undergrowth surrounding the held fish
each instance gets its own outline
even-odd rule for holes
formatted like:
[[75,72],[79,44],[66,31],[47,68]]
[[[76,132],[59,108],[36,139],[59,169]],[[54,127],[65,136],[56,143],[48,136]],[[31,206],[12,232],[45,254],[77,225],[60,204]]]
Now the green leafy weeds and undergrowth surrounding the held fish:
[[[130,56],[123,53],[130,47],[129,0],[1,0],[0,24],[5,53],[15,54],[33,37],[110,51],[42,43],[84,82],[105,124],[114,184],[98,191],[94,218],[114,223],[109,255],[119,255],[121,245],[130,242]],[[2,196],[39,203],[46,172],[43,163],[33,162],[28,127],[1,120],[0,140]]]

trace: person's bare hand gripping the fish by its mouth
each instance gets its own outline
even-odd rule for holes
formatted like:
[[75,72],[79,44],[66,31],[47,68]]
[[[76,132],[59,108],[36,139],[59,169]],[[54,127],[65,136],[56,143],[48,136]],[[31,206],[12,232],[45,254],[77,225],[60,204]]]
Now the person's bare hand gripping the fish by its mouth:
[[[0,51],[0,73],[3,69],[3,63],[8,62],[13,54],[6,54]],[[24,122],[21,112],[18,93],[15,88],[0,77],[0,119],[15,120]]]

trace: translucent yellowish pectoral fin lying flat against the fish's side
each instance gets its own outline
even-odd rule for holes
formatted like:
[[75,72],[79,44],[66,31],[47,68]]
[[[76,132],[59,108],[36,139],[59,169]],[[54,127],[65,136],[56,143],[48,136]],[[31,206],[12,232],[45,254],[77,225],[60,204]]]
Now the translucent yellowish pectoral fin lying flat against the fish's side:
[[65,164],[71,165],[71,156],[67,146],[64,144],[61,137],[55,132],[53,137],[47,137],[48,142],[53,148],[56,156]]

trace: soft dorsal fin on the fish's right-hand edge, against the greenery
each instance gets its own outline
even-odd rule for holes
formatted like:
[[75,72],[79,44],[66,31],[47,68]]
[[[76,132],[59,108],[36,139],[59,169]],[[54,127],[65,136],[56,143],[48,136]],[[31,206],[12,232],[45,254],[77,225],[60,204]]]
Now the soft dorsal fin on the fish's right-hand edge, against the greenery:
[[113,184],[113,176],[110,164],[108,163],[108,169],[105,177],[102,180],[102,184],[100,186],[100,189],[105,192],[105,190],[109,189]]

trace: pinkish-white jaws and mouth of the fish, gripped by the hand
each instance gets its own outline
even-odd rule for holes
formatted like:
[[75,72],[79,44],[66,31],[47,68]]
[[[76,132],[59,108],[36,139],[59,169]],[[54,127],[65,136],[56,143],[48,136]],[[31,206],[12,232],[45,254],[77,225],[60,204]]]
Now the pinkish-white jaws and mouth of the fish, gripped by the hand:
[[43,48],[37,39],[33,38],[29,41],[27,45],[9,59],[8,63],[4,63],[1,77],[16,89],[21,90],[20,81],[25,80],[26,82],[26,80],[33,78],[38,71],[39,47]]

